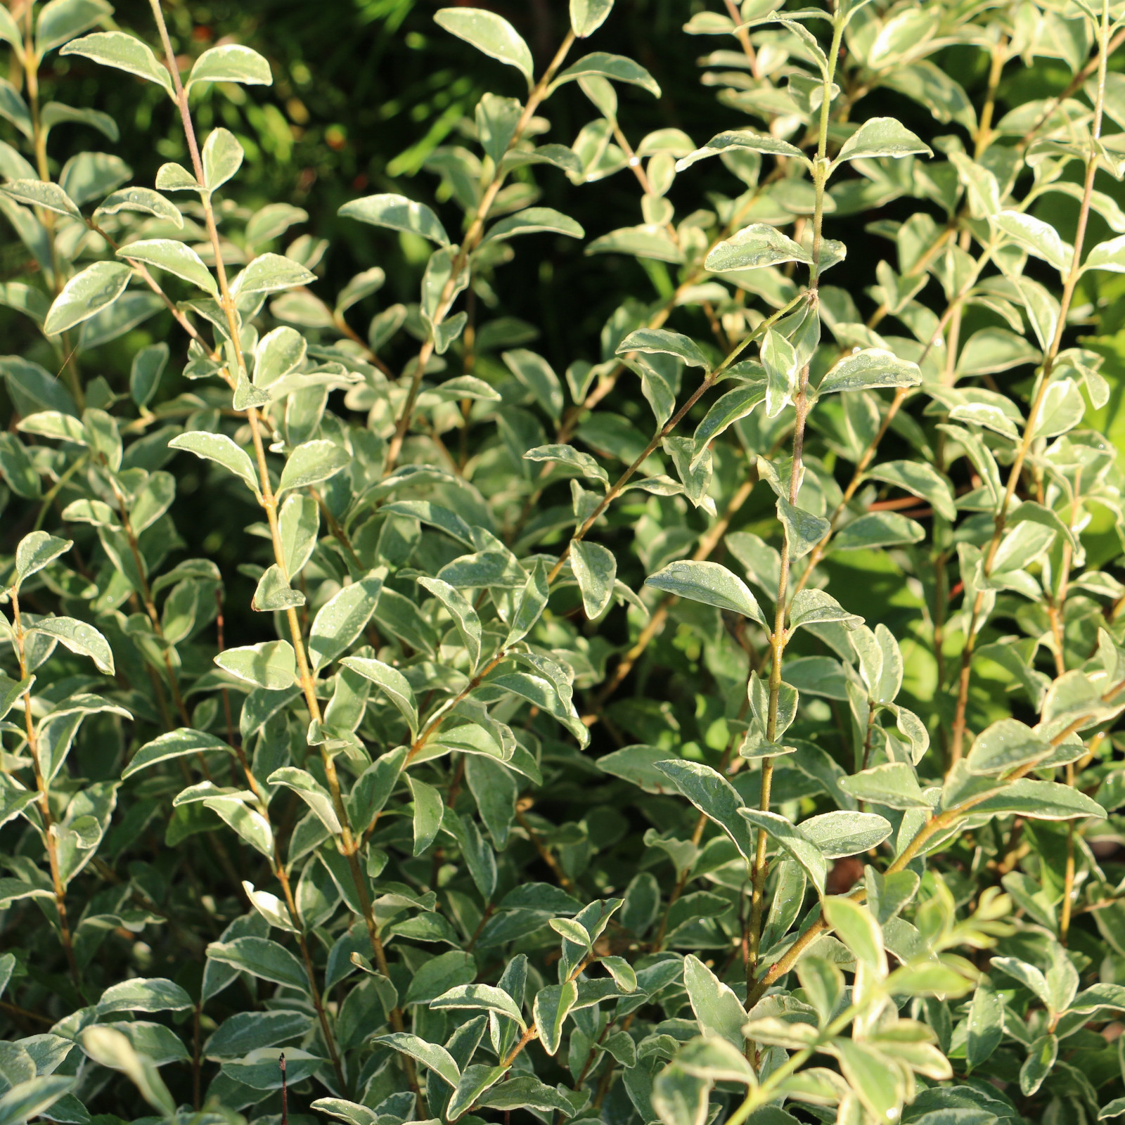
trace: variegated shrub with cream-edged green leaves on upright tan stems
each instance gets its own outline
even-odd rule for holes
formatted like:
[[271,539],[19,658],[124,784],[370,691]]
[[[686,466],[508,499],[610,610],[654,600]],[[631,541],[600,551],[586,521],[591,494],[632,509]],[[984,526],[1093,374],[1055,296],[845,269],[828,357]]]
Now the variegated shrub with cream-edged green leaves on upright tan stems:
[[[1089,233],[1125,231],[1125,6],[726,0],[684,30],[745,126],[644,137],[660,89],[596,50],[612,7],[570,0],[540,63],[436,14],[521,78],[430,159],[443,202],[342,208],[429,248],[366,331],[380,267],[323,292],[323,246],[279,252],[303,213],[228,204],[243,148],[196,135],[192,90],[262,56],[181,71],[158,0],[136,30],[0,8],[32,262],[2,299],[44,336],[0,360],[0,1125],[1125,1112],[1125,513],[1071,328],[1125,272]],[[52,52],[161,88],[189,162],[57,170],[51,129],[117,126],[40,102]],[[998,114],[1045,58],[1065,90]],[[570,83],[591,119],[558,136]],[[928,143],[879,114],[911,104]],[[537,183],[614,174],[639,222],[585,252],[659,297],[560,378],[493,281],[524,236],[586,238]],[[91,368],[164,309],[127,379]],[[258,537],[255,642],[184,557],[200,471]],[[876,576],[899,637],[847,609]]]

